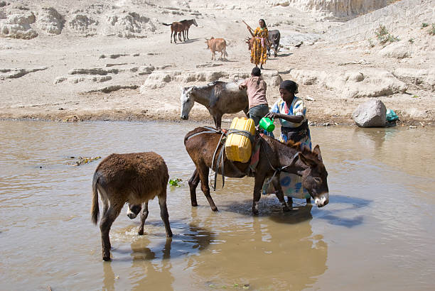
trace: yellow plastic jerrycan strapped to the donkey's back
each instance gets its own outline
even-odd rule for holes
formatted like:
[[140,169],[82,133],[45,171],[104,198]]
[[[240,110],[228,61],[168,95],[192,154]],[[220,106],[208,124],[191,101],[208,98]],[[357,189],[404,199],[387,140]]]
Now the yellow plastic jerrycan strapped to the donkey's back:
[[[230,129],[238,129],[240,131],[249,131],[254,136],[255,125],[252,119],[246,119],[245,117],[235,117],[232,119]],[[236,162],[247,163],[252,154],[252,145],[249,138],[237,133],[230,133],[225,141],[225,154],[228,160]]]

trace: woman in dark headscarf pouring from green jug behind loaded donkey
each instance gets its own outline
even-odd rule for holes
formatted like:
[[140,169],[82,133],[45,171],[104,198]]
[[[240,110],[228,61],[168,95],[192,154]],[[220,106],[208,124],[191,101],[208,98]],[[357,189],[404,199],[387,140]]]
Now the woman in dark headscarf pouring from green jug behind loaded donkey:
[[[281,136],[279,141],[294,141],[301,143],[301,147],[311,150],[311,135],[306,119],[304,101],[295,96],[298,93],[298,84],[293,81],[283,81],[279,86],[281,99],[272,106],[272,111],[266,114],[271,119],[279,119],[281,123]],[[284,195],[291,203],[291,197],[302,198],[309,201],[309,193],[302,187],[302,178],[295,174],[281,172],[279,182]]]

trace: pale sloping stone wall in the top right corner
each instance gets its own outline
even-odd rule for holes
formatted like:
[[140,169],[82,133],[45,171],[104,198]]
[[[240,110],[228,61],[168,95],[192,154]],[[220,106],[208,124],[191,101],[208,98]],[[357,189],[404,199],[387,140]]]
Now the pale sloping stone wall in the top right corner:
[[434,23],[435,0],[402,0],[377,11],[347,21],[330,29],[327,40],[340,43],[374,38],[380,25],[390,33],[397,34],[404,29],[419,27],[421,23]]

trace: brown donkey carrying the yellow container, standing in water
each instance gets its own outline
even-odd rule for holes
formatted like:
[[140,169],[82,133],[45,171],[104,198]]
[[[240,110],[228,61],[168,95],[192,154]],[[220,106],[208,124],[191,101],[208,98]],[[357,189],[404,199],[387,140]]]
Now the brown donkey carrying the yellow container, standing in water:
[[[207,133],[202,133],[208,131]],[[192,206],[198,206],[196,202],[196,187],[201,182],[201,190],[210,204],[213,211],[217,212],[215,202],[210,196],[210,187],[208,186],[208,172],[212,168],[213,154],[220,141],[221,133],[210,133],[208,128],[198,127],[186,134],[184,145],[195,163],[196,170],[189,180],[190,201]],[[278,175],[279,172],[291,172],[302,177],[302,184],[313,197],[318,207],[323,207],[329,202],[328,182],[326,177],[325,165],[323,165],[321,151],[316,146],[313,151],[308,148],[301,148],[300,144],[281,143],[269,136],[260,137],[259,163],[254,174],[254,198],[252,202],[252,214],[258,214],[258,202],[261,196],[264,180],[267,177]],[[220,144],[216,150],[220,152]],[[213,166],[218,163],[218,154],[215,155]],[[218,165],[218,173],[221,172],[221,165],[224,163],[225,177],[245,177],[249,168],[248,163],[232,162],[227,160],[225,154]],[[215,170],[215,169],[212,169]],[[272,179],[274,187],[277,190],[276,197],[281,202],[282,209],[289,211],[284,200],[284,194],[281,185],[277,182],[279,179]]]

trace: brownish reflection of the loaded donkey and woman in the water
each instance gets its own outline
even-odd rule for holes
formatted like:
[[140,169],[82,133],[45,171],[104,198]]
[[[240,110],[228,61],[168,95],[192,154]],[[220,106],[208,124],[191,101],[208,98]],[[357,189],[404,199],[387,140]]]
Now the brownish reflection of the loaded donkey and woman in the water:
[[[201,256],[190,257],[193,272],[203,283],[198,288],[232,287],[237,283],[254,290],[301,290],[313,285],[327,269],[328,245],[322,235],[313,235],[311,208],[308,204],[288,213],[272,211],[269,216],[259,217],[242,213],[242,217],[231,219],[229,229],[225,228],[227,218],[215,216],[214,224],[203,220],[223,230],[219,241]],[[225,209],[240,208],[236,205]]]

